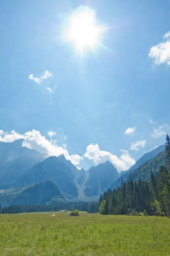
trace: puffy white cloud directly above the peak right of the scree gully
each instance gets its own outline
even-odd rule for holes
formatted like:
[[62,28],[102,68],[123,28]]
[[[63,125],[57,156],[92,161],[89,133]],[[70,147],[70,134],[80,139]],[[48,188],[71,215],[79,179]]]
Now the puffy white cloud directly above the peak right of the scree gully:
[[86,148],[84,157],[92,160],[95,165],[99,163],[105,163],[109,160],[118,170],[118,172],[126,171],[135,164],[135,160],[130,156],[128,151],[121,150],[120,157],[111,154],[107,151],[100,150],[98,144],[90,144]]

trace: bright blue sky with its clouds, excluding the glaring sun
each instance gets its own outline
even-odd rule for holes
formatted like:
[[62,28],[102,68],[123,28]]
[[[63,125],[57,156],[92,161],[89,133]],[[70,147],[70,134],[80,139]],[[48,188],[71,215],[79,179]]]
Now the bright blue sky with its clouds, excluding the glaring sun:
[[[80,6],[106,28],[102,47],[83,56],[61,36]],[[0,140],[23,137],[30,148],[63,152],[85,169],[111,160],[119,171],[164,143],[169,17],[169,0],[2,0]]]

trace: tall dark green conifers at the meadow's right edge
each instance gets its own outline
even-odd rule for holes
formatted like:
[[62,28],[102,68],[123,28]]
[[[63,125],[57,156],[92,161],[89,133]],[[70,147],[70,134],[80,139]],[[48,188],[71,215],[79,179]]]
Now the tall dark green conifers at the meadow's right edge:
[[167,135],[164,165],[156,176],[150,173],[150,181],[124,182],[116,189],[108,189],[100,196],[101,214],[148,214],[170,217],[170,137]]

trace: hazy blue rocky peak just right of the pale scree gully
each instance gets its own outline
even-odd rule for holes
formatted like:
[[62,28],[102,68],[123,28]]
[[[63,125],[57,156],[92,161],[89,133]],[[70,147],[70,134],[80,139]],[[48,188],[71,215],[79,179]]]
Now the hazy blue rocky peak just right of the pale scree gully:
[[85,183],[84,194],[95,196],[107,189],[118,178],[118,171],[109,161],[92,166]]

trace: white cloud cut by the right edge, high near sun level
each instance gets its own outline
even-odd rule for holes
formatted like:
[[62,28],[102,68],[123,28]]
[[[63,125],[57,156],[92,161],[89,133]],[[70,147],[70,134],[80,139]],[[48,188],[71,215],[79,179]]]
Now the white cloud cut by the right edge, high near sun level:
[[150,48],[149,57],[155,59],[157,65],[170,65],[170,31],[164,35],[163,42]]

